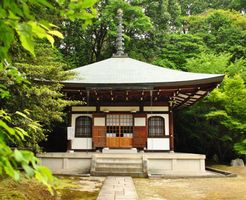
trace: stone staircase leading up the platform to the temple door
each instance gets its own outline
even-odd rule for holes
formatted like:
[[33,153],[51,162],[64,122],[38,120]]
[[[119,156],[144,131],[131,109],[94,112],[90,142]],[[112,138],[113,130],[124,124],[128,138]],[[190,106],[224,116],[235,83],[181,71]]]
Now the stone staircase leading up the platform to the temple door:
[[146,177],[145,162],[141,155],[93,155],[92,176]]

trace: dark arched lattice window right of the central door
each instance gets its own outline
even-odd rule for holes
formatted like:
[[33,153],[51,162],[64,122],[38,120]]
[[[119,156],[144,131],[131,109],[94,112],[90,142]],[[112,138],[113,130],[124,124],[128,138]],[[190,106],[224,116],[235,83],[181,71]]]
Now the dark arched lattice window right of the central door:
[[148,137],[164,137],[165,123],[163,117],[150,117],[148,120],[149,136]]

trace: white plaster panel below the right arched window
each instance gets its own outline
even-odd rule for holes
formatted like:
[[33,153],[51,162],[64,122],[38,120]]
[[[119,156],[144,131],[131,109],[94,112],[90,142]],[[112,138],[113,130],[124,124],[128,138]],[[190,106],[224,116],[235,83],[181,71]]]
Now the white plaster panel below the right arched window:
[[169,138],[148,138],[148,150],[170,150]]

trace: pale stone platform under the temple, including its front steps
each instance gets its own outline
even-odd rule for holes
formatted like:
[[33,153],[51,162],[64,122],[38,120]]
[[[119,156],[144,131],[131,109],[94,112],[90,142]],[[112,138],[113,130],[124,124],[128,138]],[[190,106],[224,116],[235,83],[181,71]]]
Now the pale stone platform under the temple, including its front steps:
[[43,153],[37,156],[54,174],[133,177],[209,175],[205,170],[205,155],[200,154],[72,152]]

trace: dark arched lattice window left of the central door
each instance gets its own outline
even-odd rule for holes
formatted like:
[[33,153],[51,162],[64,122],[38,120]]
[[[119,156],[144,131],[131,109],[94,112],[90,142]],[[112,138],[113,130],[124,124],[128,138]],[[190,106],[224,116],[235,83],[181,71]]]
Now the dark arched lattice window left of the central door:
[[76,118],[75,137],[92,137],[92,120],[88,116]]

